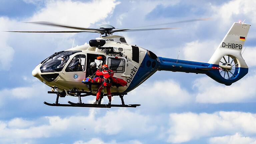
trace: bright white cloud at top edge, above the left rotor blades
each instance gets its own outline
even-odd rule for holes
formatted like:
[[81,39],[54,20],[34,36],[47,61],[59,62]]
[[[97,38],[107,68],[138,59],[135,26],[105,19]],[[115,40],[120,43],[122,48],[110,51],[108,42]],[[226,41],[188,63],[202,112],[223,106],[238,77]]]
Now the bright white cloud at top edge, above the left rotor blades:
[[[115,0],[80,2],[71,0],[47,1],[44,8],[36,12],[30,21],[52,21],[65,25],[89,27],[90,24],[110,16],[117,4]],[[104,12],[99,8],[104,7]]]

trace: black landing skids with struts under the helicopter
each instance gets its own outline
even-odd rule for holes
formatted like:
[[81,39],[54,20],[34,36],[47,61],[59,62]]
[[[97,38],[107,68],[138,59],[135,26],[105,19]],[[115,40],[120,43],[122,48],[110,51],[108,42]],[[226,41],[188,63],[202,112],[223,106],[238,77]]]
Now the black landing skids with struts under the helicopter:
[[[55,103],[48,103],[48,102],[44,102],[44,104],[48,105],[48,106],[63,106],[63,107],[95,107],[95,108],[111,108],[111,107],[133,107],[133,108],[136,108],[137,106],[140,106],[140,104],[129,104],[129,105],[126,105],[124,104],[124,94],[119,94],[119,97],[121,98],[121,102],[122,104],[121,105],[117,105],[117,104],[101,104],[101,99],[103,98],[103,96],[101,96],[100,100],[99,100],[99,104],[86,104],[86,103],[82,103],[82,100],[81,100],[81,93],[77,93],[76,96],[78,96],[78,100],[79,100],[79,103],[73,103],[71,101],[68,101],[69,104],[59,104],[59,97],[62,97],[61,93],[59,92],[48,92],[48,93],[55,93],[57,94],[57,97],[56,97],[56,102]],[[127,93],[125,93],[127,94]],[[114,94],[114,95],[117,95],[117,94]],[[88,94],[86,94],[86,96],[88,96]]]

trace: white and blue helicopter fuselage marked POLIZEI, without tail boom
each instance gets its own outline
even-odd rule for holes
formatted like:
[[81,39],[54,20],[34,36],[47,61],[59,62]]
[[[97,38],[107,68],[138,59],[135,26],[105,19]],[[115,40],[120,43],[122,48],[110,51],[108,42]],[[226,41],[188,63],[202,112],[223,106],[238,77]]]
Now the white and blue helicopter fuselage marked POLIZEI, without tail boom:
[[[123,87],[114,86],[111,92],[128,93],[157,71],[159,59],[151,51],[136,45],[128,45],[122,36],[113,35],[96,39],[105,40],[104,47],[113,47],[115,52],[120,52],[122,55],[107,54],[105,50],[85,43],[50,56],[36,66],[32,75],[59,92],[88,91],[87,86],[81,81],[88,76],[86,70],[90,63],[96,62],[98,65],[106,63],[114,71],[114,77],[127,82]],[[67,55],[65,64],[62,64],[64,62],[63,59],[61,60],[63,55],[64,57]],[[102,56],[103,60],[97,60],[98,56]],[[75,68],[74,61],[79,63],[79,69]],[[98,85],[92,85],[92,93],[96,93],[97,89]]]

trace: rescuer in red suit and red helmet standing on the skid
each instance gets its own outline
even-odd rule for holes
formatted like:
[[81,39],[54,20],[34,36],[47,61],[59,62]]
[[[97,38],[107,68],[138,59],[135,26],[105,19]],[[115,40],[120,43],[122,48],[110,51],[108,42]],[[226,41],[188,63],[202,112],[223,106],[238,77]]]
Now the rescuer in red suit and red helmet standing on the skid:
[[96,75],[103,76],[103,84],[99,85],[97,95],[96,95],[96,101],[94,102],[94,104],[99,104],[101,90],[103,89],[103,87],[107,87],[107,95],[108,95],[108,100],[109,100],[108,104],[110,105],[111,104],[110,88],[112,85],[112,77],[114,75],[114,72],[112,70],[108,69],[108,65],[104,64],[102,66],[102,71],[97,70]]

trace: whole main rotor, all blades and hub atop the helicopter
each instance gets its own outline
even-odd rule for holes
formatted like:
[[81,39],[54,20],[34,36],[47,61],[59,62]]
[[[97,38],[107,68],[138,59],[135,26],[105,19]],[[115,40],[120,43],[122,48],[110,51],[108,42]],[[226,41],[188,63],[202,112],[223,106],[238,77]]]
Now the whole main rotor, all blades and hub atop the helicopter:
[[[202,20],[208,20],[206,18],[199,18],[199,19],[191,19],[191,20],[183,20],[178,22],[171,22],[171,23],[164,23],[164,24],[156,24],[156,25],[148,25],[144,27],[149,26],[160,26],[160,25],[168,25],[168,24],[176,24],[176,23],[187,23],[187,22],[194,22],[194,21],[202,21]],[[63,27],[63,28],[70,28],[70,29],[77,29],[80,31],[7,31],[7,32],[22,32],[22,33],[81,33],[81,32],[92,32],[92,33],[100,33],[105,34],[107,36],[108,34],[113,34],[114,32],[121,32],[121,31],[151,31],[151,30],[166,30],[166,29],[179,29],[177,27],[167,27],[167,28],[122,28],[122,29],[116,29],[115,27],[111,25],[102,25],[99,28],[82,28],[82,27],[75,27],[75,26],[68,26],[63,24],[56,24],[52,22],[47,21],[38,21],[38,22],[26,22],[26,23],[33,23],[33,24],[40,24],[40,25],[48,25],[48,26],[55,26],[55,27]]]

